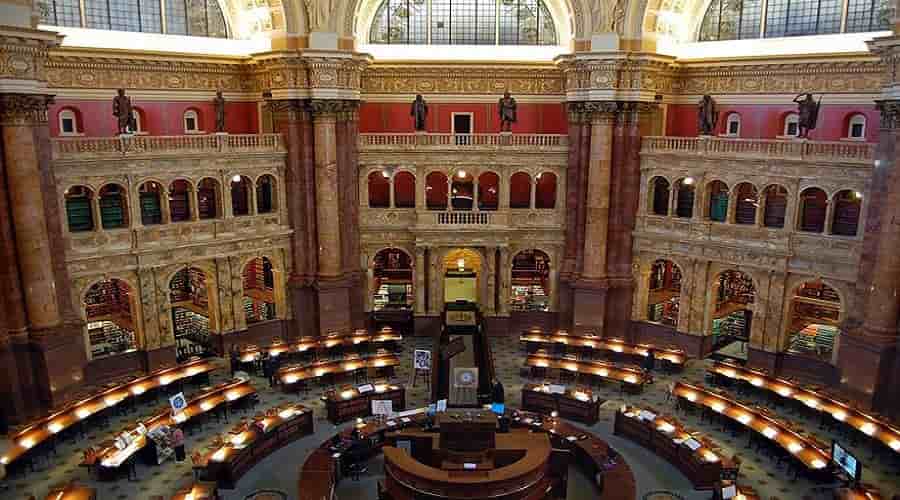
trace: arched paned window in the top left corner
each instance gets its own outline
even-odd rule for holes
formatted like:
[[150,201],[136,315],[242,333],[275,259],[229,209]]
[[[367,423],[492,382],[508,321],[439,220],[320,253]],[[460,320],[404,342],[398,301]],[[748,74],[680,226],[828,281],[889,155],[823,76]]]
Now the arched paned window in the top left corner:
[[41,22],[53,26],[228,37],[216,0],[47,0],[43,6]]

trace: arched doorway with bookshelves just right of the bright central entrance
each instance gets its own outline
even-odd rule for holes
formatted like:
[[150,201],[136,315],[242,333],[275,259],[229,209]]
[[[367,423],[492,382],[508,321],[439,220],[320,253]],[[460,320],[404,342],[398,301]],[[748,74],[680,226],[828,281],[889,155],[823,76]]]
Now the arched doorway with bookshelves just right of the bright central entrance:
[[513,311],[550,310],[550,257],[540,250],[513,256],[510,297]]

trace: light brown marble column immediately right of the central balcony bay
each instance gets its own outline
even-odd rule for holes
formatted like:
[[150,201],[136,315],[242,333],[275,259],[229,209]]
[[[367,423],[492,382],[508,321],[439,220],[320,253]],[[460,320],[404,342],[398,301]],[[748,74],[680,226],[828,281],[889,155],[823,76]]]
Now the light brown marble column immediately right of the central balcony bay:
[[573,330],[602,333],[605,328],[607,235],[615,102],[587,103],[591,112],[591,156],[587,173],[584,265],[575,283]]

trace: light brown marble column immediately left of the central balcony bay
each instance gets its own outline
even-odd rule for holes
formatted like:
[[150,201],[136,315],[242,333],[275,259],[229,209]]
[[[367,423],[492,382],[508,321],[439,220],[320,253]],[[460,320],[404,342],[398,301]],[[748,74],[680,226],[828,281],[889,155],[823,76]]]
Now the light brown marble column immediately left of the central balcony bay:
[[341,238],[354,230],[341,223],[340,182],[338,179],[337,115],[343,101],[314,100],[316,235],[319,267],[319,332],[349,331],[350,286],[344,273]]

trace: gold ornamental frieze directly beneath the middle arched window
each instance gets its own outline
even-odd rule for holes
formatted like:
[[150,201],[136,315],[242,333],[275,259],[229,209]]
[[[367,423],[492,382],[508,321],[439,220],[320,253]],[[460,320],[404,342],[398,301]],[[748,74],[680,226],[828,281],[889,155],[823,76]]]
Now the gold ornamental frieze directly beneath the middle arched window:
[[562,95],[562,74],[552,66],[375,65],[363,74],[370,94]]

